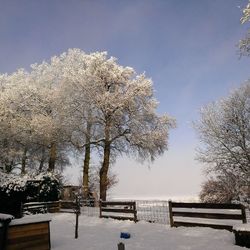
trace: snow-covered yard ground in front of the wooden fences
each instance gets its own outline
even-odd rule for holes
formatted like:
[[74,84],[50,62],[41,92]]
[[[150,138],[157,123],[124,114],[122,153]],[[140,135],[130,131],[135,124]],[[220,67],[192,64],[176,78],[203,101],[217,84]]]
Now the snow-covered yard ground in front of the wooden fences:
[[[52,250],[236,250],[234,235],[210,228],[170,228],[147,222],[134,223],[96,217],[79,217],[79,238],[74,239],[74,214],[49,214]],[[29,217],[29,216],[27,216]],[[130,239],[120,239],[129,232]]]

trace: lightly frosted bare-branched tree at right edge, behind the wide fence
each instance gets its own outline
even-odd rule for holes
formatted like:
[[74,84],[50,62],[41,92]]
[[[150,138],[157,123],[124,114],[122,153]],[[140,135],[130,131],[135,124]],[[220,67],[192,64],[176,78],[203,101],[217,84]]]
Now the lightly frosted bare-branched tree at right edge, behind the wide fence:
[[[235,180],[237,189],[245,190],[245,196],[249,196],[250,82],[228,97],[204,107],[200,116],[195,123],[202,142],[198,160],[206,164],[208,173],[219,176],[220,180],[222,177]],[[222,182],[216,181],[218,183]],[[234,188],[233,184],[231,188]]]

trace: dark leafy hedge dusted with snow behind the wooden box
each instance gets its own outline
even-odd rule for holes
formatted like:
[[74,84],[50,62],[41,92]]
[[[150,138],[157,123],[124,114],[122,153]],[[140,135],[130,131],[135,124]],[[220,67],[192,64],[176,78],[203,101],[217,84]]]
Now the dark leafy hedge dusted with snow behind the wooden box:
[[58,200],[60,189],[60,181],[52,173],[19,176],[0,171],[0,213],[20,217],[21,203]]

